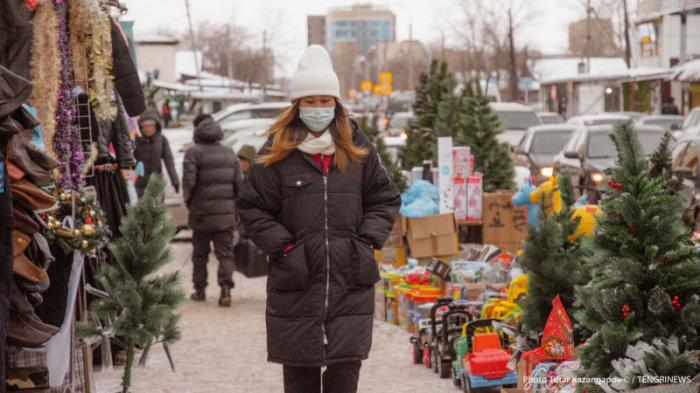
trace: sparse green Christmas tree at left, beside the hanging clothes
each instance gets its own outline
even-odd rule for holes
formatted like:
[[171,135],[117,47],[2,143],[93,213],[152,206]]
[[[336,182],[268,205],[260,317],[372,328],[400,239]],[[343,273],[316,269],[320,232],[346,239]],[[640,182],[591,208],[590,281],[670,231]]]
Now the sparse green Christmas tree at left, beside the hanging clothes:
[[175,234],[163,204],[164,189],[162,177],[151,176],[143,198],[128,208],[120,228],[122,237],[109,245],[116,263],[102,266],[99,281],[105,293],[91,307],[100,321],[111,325],[96,322],[79,331],[82,336],[94,336],[108,329],[125,342],[123,393],[131,386],[136,348],[144,348],[145,356],[148,348],[162,343],[170,358],[168,344],[180,338],[175,308],[185,297],[179,273],[158,275],[171,259],[168,244]]

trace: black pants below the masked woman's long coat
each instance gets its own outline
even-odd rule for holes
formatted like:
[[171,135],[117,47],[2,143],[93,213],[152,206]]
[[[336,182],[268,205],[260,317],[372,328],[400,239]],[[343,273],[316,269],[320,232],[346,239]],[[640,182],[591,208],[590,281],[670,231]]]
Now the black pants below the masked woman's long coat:
[[320,367],[284,366],[284,393],[356,393],[362,363],[338,363],[328,366],[321,377]]

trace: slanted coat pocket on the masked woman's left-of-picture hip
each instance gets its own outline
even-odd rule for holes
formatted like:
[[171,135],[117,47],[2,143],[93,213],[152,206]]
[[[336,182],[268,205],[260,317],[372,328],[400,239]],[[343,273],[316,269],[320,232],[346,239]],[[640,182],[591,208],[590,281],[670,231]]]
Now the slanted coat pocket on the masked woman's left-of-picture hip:
[[300,291],[309,287],[309,267],[304,243],[270,263],[268,285],[279,291]]

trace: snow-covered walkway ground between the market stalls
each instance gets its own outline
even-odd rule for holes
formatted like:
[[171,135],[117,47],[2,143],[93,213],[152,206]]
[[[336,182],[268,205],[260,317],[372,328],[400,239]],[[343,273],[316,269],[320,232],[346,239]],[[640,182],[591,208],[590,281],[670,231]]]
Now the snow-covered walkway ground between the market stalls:
[[[165,270],[179,269],[188,293],[192,268],[189,243],[173,243],[176,256]],[[133,377],[134,393],[282,392],[282,367],[268,363],[265,349],[265,278],[246,279],[236,273],[233,306],[216,305],[216,259],[209,264],[207,302],[182,306],[182,340],[172,346],[176,371],[162,347],[151,350],[145,368]],[[212,285],[213,283],[214,285]],[[413,365],[409,334],[376,322],[374,345],[363,363],[359,392],[459,392],[423,366]],[[121,370],[95,374],[98,393],[119,391]]]

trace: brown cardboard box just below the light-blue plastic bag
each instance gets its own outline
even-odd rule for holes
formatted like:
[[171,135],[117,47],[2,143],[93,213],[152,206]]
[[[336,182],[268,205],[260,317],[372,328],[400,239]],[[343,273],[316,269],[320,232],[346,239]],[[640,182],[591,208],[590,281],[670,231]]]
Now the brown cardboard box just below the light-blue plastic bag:
[[406,240],[413,258],[439,257],[459,252],[455,215],[441,214],[406,221]]

